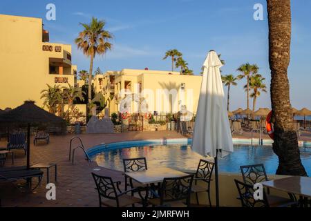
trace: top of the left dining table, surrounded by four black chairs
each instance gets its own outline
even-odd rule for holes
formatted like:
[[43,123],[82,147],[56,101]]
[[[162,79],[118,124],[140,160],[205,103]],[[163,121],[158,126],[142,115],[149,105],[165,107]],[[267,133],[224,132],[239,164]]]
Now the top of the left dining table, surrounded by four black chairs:
[[124,173],[128,177],[131,177],[133,180],[140,182],[141,184],[153,184],[162,182],[165,177],[182,177],[189,175],[187,173],[182,173],[170,168],[157,168],[157,169],[148,169],[146,171],[137,171],[137,172],[126,172]]

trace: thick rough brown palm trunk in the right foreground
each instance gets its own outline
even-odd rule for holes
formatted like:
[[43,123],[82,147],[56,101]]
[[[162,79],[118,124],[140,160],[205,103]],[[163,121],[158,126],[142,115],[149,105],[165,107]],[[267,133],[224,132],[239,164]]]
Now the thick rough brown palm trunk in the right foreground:
[[271,103],[274,126],[273,151],[279,157],[276,174],[307,175],[301,163],[292,105],[288,65],[290,64],[290,0],[267,0],[269,23],[269,64]]

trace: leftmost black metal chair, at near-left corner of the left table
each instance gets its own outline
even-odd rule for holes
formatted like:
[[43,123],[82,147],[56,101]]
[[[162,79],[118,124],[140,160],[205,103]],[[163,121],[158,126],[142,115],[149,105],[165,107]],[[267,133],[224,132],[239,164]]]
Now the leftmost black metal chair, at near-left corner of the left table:
[[[95,173],[92,173],[92,175],[96,184],[95,189],[97,190],[100,200],[100,207],[102,207],[102,205],[109,207],[125,207],[133,206],[135,203],[142,203],[141,199],[126,194],[131,192],[132,189],[122,192],[120,190],[120,181],[113,182],[111,177],[105,177]],[[107,200],[102,200],[102,198],[106,198]]]

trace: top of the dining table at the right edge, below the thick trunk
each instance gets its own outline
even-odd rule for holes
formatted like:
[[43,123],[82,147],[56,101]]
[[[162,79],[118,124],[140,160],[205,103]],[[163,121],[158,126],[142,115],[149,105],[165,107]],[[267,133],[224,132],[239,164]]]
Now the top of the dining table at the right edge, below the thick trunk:
[[305,197],[311,197],[311,177],[292,176],[278,180],[262,182],[263,186],[278,189],[288,193],[294,193]]

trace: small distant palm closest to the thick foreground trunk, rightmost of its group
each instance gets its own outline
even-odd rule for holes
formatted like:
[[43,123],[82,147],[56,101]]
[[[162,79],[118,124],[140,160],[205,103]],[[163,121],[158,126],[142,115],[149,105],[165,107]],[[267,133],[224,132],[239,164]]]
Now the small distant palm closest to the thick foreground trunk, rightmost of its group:
[[[250,97],[253,98],[253,111],[255,111],[256,100],[257,97],[261,95],[261,91],[267,92],[267,90],[265,90],[267,87],[265,86],[265,84],[263,84],[264,80],[265,78],[259,74],[252,75],[252,77],[250,77],[249,79],[249,88],[252,90]],[[245,85],[244,88],[247,89],[247,86]]]

